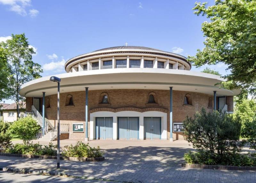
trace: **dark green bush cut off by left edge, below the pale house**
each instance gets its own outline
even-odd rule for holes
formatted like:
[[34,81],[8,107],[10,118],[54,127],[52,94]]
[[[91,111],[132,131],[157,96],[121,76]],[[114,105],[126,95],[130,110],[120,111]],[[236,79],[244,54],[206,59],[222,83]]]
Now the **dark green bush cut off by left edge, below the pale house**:
[[0,151],[8,148],[12,142],[12,137],[9,133],[7,133],[7,129],[9,128],[8,123],[4,123],[0,121]]

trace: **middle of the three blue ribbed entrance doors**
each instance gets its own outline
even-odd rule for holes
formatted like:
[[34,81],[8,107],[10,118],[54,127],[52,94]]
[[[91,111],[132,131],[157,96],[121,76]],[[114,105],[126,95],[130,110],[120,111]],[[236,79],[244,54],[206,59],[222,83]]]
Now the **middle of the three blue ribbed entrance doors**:
[[119,140],[139,139],[139,117],[117,117],[117,128]]

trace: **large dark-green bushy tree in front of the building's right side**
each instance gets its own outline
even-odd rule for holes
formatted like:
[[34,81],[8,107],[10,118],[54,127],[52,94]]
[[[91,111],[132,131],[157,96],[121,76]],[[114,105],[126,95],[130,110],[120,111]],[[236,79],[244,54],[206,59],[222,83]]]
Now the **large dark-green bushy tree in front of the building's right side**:
[[224,153],[238,152],[242,147],[238,142],[241,123],[230,114],[220,114],[218,111],[206,113],[202,108],[194,118],[187,117],[183,125],[185,139],[192,142],[196,149],[217,153],[222,157]]

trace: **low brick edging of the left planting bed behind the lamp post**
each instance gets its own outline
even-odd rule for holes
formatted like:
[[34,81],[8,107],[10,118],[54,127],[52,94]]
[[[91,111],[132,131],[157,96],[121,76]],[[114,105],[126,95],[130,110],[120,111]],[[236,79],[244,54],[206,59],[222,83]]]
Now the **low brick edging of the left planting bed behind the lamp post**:
[[[28,155],[28,154],[11,154],[11,153],[0,153],[0,156],[9,157],[25,157],[25,158],[39,158],[39,159],[57,159],[57,156],[46,156],[46,155]],[[89,162],[99,162],[104,161],[105,157],[64,157],[60,156],[60,160],[65,161],[89,161]]]

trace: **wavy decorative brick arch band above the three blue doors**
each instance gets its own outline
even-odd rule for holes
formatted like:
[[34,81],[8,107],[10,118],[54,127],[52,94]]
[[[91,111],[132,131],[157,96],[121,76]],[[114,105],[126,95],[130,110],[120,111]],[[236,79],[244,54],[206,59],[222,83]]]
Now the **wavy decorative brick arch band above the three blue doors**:
[[122,108],[117,108],[117,109],[102,107],[102,108],[91,109],[91,110],[89,110],[89,113],[99,112],[99,111],[108,111],[108,112],[120,112],[120,111],[148,112],[148,111],[158,111],[158,112],[168,113],[167,109],[156,108],[156,107],[145,108],[145,109],[139,109],[139,108],[135,108],[135,107],[122,107]]

